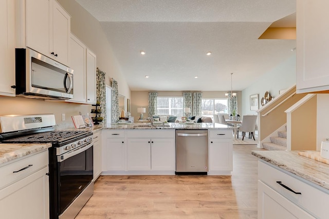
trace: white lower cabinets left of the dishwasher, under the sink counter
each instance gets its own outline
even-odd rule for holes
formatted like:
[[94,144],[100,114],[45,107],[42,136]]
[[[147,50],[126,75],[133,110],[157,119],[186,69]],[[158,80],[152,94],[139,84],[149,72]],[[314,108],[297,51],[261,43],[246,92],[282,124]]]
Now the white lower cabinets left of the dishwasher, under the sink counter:
[[175,130],[104,130],[104,175],[175,174]]

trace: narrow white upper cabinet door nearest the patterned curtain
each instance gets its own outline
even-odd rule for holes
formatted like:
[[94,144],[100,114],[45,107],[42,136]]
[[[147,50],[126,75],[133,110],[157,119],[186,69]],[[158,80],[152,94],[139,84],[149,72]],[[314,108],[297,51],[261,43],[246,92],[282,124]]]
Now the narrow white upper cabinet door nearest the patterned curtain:
[[87,49],[87,103],[96,104],[96,54]]

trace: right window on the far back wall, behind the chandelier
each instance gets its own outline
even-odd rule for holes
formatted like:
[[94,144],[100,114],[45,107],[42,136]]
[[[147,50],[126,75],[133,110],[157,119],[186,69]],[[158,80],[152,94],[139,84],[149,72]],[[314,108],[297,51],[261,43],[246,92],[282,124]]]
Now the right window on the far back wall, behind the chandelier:
[[228,112],[228,99],[202,99],[202,116],[213,117],[214,114]]

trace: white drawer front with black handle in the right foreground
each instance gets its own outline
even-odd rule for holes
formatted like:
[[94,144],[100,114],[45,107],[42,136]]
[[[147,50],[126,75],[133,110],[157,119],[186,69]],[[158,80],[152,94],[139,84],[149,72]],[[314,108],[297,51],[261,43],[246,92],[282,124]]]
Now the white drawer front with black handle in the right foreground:
[[[329,203],[329,191],[319,188],[317,185],[313,185],[312,182],[299,176],[277,168],[259,161],[259,180],[316,218],[326,218],[327,213],[325,213],[324,209],[327,208],[327,203]],[[301,194],[289,191],[277,183],[277,181]]]

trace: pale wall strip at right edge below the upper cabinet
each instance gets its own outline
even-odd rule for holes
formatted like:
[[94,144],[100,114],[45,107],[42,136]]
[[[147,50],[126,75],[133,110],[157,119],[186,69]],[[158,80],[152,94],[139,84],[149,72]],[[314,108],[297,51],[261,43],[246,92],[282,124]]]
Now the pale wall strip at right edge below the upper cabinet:
[[317,95],[317,150],[321,149],[321,141],[329,138],[329,94]]

